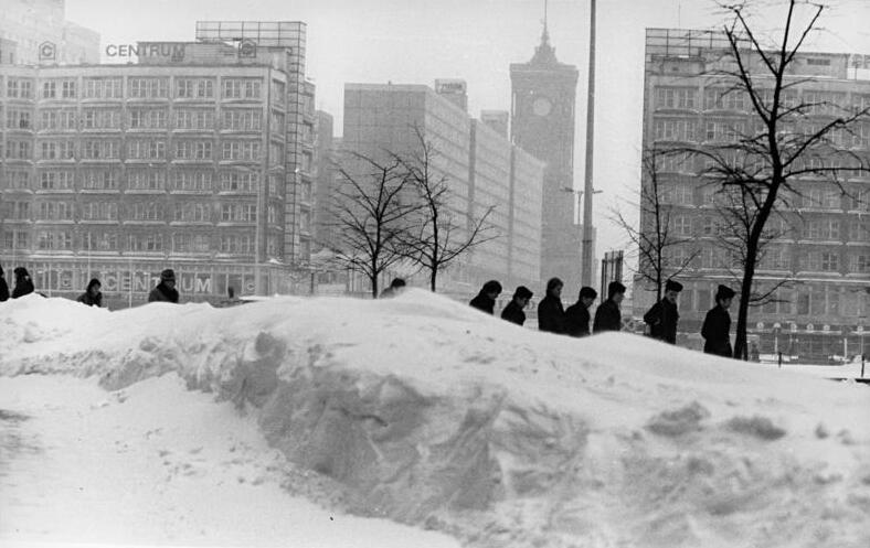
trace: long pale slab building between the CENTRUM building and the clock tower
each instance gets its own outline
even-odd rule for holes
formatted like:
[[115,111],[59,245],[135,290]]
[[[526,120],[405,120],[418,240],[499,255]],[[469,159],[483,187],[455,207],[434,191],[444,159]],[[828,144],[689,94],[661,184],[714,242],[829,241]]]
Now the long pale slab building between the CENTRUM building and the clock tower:
[[416,131],[437,151],[432,164],[448,181],[457,240],[494,206],[487,218],[494,238],[441,275],[443,289],[467,294],[491,278],[506,288],[538,286],[543,163],[428,86],[344,86],[344,150],[375,159],[414,152]]

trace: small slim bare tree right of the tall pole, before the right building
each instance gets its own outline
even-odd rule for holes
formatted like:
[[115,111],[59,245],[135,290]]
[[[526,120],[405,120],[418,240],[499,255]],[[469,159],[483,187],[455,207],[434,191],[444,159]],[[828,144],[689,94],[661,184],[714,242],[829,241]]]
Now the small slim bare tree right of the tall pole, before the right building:
[[659,165],[662,161],[688,160],[686,153],[671,154],[667,151],[650,148],[641,157],[641,169],[645,181],[640,185],[639,203],[640,226],[638,227],[620,211],[613,211],[613,219],[625,230],[632,247],[638,255],[637,272],[640,279],[656,288],[656,302],[661,300],[662,288],[668,278],[679,276],[689,269],[699,255],[694,247],[686,255],[672,251],[687,248],[693,241],[691,237],[675,234],[675,206],[669,198],[670,189],[662,181]]

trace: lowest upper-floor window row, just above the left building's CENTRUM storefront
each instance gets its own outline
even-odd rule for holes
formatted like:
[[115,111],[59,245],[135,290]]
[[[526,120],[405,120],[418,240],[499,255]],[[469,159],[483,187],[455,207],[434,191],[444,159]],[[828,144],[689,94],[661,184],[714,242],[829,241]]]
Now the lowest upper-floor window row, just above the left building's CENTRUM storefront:
[[128,251],[128,252],[211,252],[248,255],[255,249],[255,237],[248,234],[121,234],[117,232],[7,230],[7,249],[51,251]]

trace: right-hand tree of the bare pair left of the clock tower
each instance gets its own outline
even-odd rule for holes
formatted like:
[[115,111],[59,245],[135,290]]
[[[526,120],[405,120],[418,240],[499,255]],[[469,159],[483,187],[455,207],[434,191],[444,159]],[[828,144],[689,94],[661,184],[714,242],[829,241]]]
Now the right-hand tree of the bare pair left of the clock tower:
[[[438,151],[423,131],[414,126],[417,147],[404,154],[393,153],[396,162],[405,170],[405,176],[416,190],[420,209],[413,233],[404,240],[405,257],[428,271],[429,289],[436,290],[438,272],[448,268],[456,259],[475,246],[492,239],[488,235],[487,217],[490,206],[475,218],[473,213],[456,211],[449,179],[435,168]],[[465,227],[457,218],[465,217]]]

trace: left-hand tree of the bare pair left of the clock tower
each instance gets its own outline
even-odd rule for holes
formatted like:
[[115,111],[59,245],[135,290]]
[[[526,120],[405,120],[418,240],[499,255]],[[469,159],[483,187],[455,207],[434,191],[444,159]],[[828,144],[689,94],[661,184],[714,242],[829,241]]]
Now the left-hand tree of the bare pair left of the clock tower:
[[407,255],[411,218],[421,205],[403,198],[411,181],[395,159],[379,162],[349,153],[337,171],[335,261],[369,278],[376,298],[378,278]]

